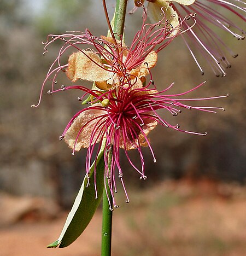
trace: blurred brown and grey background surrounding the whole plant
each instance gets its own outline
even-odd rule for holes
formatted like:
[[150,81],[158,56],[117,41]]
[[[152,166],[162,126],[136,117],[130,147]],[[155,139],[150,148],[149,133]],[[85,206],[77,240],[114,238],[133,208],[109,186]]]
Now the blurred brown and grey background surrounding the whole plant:
[[[112,15],[114,1],[107,2]],[[142,24],[141,12],[126,17],[126,44]],[[106,34],[101,1],[2,0],[0,24],[0,255],[99,255],[100,211],[73,245],[45,249],[60,235],[85,174],[86,150],[71,156],[58,139],[81,108],[80,95],[44,94],[38,108],[31,104],[37,103],[61,46],[51,45],[43,56],[42,41],[50,33],[85,28],[96,36]],[[131,203],[126,204],[119,191],[113,255],[246,255],[246,50],[245,42],[219,33],[238,53],[236,59],[229,56],[232,67],[225,78],[216,78],[200,59],[202,76],[181,38],[158,56],[153,70],[157,88],[175,82],[172,92],[183,92],[207,80],[192,97],[230,97],[204,103],[225,108],[217,114],[163,113],[181,129],[208,135],[157,127],[150,133],[156,164],[144,149],[146,181],[139,181],[136,171],[122,161]],[[58,84],[68,83],[61,74]],[[137,159],[135,154],[131,152]]]

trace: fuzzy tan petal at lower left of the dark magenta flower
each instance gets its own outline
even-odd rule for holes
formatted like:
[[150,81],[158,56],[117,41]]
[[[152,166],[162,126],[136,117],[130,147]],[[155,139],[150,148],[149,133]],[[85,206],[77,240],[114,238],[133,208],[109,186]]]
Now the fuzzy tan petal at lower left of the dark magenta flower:
[[[93,106],[97,106],[97,105],[101,106],[101,104],[99,103],[96,103]],[[65,142],[68,144],[68,146],[72,149],[74,148],[74,144],[78,136],[78,133],[80,132],[81,127],[83,127],[87,122],[88,124],[86,124],[83,130],[80,132],[80,135],[75,145],[75,150],[79,151],[81,148],[88,148],[90,144],[95,144],[99,142],[101,140],[101,135],[98,138],[97,136],[99,135],[99,131],[101,131],[101,129],[99,129],[99,131],[96,132],[94,139],[91,143],[90,143],[90,139],[92,136],[93,129],[95,129],[96,126],[98,127],[100,124],[102,124],[103,121],[101,120],[98,123],[98,118],[95,120],[92,120],[92,119],[99,117],[102,114],[105,114],[103,110],[96,110],[96,109],[88,109],[87,111],[79,114],[79,116],[75,118],[73,124],[69,127],[69,129],[66,132]]]

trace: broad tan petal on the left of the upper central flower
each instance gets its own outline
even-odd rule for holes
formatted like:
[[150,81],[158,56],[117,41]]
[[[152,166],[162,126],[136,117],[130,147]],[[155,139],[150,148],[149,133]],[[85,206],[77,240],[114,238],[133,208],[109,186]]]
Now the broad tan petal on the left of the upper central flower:
[[92,51],[77,51],[69,56],[67,77],[72,82],[78,79],[102,82],[109,79],[113,73],[106,71],[101,66],[103,66],[103,62],[97,54]]

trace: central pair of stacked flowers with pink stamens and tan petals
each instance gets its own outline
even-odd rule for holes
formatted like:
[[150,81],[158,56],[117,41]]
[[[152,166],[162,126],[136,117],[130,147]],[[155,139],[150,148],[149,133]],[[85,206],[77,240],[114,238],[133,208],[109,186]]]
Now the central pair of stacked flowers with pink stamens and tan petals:
[[[194,18],[194,15],[188,14],[183,20],[179,19],[179,24],[175,27],[171,22],[172,17],[172,14],[167,17],[163,11],[160,21],[148,24],[144,10],[143,25],[129,47],[125,45],[124,40],[116,40],[113,35],[111,37],[96,37],[89,30],[84,33],[51,34],[48,36],[47,42],[44,43],[46,52],[47,47],[55,40],[60,39],[64,42],[46,75],[39,102],[33,107],[39,105],[44,86],[49,80],[52,81],[49,94],[70,89],[83,92],[78,100],[86,102],[90,106],[81,109],[73,116],[60,139],[64,138],[72,149],[72,154],[81,148],[87,148],[87,174],[90,172],[92,158],[97,159],[99,150],[103,147],[103,141],[106,140],[106,147],[103,148],[106,164],[104,179],[108,181],[114,207],[116,207],[114,199],[114,192],[117,190],[116,173],[125,190],[127,202],[129,201],[120,165],[120,149],[124,150],[126,159],[140,174],[140,178],[145,179],[147,176],[144,173],[142,147],[149,147],[155,162],[154,150],[147,136],[157,124],[185,133],[206,135],[206,133],[181,130],[179,125],[168,123],[157,113],[157,110],[165,109],[167,113],[174,116],[181,112],[181,108],[212,113],[216,113],[218,109],[223,110],[220,107],[192,106],[185,103],[227,96],[182,98],[183,95],[200,88],[203,84],[180,94],[167,94],[173,84],[165,90],[157,91],[150,71],[156,65],[157,53],[171,43],[175,37],[185,32],[180,30],[180,27],[186,20]],[[188,32],[191,29],[192,26],[187,27]],[[86,45],[89,45],[90,49],[85,48]],[[81,46],[84,49],[81,49]],[[75,53],[69,56],[68,63],[62,64],[61,57],[71,49],[75,50]],[[61,71],[66,72],[72,82],[77,82],[78,79],[93,82],[92,89],[81,85],[62,85],[60,89],[55,89],[56,77]],[[149,82],[147,82],[147,75],[150,77]],[[128,150],[131,149],[137,149],[140,167],[134,164],[130,158]],[[109,152],[112,153],[110,163],[108,162]]]

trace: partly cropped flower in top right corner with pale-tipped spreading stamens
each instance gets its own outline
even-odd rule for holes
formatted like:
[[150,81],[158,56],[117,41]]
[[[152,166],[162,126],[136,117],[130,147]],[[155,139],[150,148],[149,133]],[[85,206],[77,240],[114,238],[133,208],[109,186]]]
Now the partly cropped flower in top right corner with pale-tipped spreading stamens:
[[[217,7],[221,9],[217,10]],[[203,69],[191,49],[192,46],[196,46],[201,51],[216,76],[224,76],[226,74],[225,69],[231,67],[229,61],[226,59],[224,49],[229,51],[233,57],[237,57],[237,54],[233,53],[226,45],[225,40],[216,33],[215,28],[219,27],[237,39],[244,39],[244,36],[241,36],[239,33],[245,33],[245,31],[238,27],[235,21],[232,20],[233,18],[229,18],[228,15],[234,15],[246,21],[243,15],[246,11],[245,2],[241,0],[149,1],[148,15],[153,22],[161,19],[163,11],[167,16],[173,16],[174,27],[178,24],[178,20],[184,20],[186,15],[191,13],[196,15],[196,25],[193,28],[188,29],[191,26],[189,20],[184,20],[181,24],[181,29],[187,30],[185,33],[187,36],[183,36],[184,42],[202,74],[204,73]],[[226,16],[224,12],[227,12],[228,15]]]

